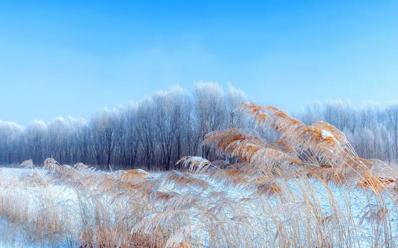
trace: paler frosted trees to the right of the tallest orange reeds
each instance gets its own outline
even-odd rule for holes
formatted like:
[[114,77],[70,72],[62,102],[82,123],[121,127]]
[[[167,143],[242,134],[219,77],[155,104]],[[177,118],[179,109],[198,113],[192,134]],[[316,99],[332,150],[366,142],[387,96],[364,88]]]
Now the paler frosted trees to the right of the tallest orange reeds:
[[363,101],[354,108],[349,100],[328,100],[307,104],[297,115],[304,124],[323,121],[342,130],[360,157],[385,162],[398,159],[398,101],[386,107]]

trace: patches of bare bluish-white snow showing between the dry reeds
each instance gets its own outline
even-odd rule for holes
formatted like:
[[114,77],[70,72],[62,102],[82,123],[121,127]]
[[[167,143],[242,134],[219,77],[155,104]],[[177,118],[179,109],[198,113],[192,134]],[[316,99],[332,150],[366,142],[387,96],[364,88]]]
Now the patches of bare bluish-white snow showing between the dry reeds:
[[[317,166],[317,165],[313,165]],[[137,171],[138,173],[143,173],[141,171]],[[181,177],[185,177],[186,175],[179,172],[179,171],[173,171],[177,175]],[[101,173],[101,172],[99,172]],[[145,172],[146,173],[146,172]],[[46,171],[42,169],[37,169],[37,170],[32,170],[32,169],[7,169],[3,168],[1,169],[0,172],[0,177],[1,177],[1,186],[0,186],[0,196],[1,197],[6,197],[8,193],[10,193],[10,188],[7,187],[7,183],[13,182],[15,180],[22,180],[24,178],[29,178],[32,177],[32,175],[45,175]],[[161,179],[162,173],[149,173],[150,175],[154,175],[154,178],[149,178],[149,182],[156,182],[163,180]],[[194,175],[190,175],[190,177],[195,177]],[[246,190],[244,186],[240,187],[228,187],[226,188],[222,183],[217,183],[213,180],[210,180],[207,176],[201,175],[200,178],[207,183],[209,183],[212,187],[214,187],[214,190],[228,190],[228,193],[231,196],[240,196],[243,198],[249,198],[251,193],[249,190]],[[364,211],[366,210],[366,206],[369,204],[375,204],[375,198],[372,196],[367,196],[363,192],[356,191],[356,190],[348,190],[345,188],[339,188],[335,186],[328,186],[326,187],[325,185],[322,185],[320,182],[313,180],[313,179],[308,179],[309,182],[305,181],[292,181],[292,182],[281,182],[281,184],[285,183],[285,187],[289,188],[293,193],[297,195],[303,195],[303,192],[306,190],[306,185],[309,184],[311,185],[312,188],[314,188],[314,192],[316,195],[313,196],[313,198],[316,198],[319,201],[319,206],[320,210],[322,213],[324,213],[326,216],[332,216],[336,213],[333,212],[333,209],[336,209],[335,207],[332,207],[332,204],[338,204],[338,209],[341,209],[343,212],[349,212],[350,215],[352,215],[352,219],[355,222],[355,225],[357,227],[357,232],[359,235],[359,244],[361,247],[372,247],[372,242],[374,242],[375,237],[372,235],[372,226],[371,223],[368,223],[366,220],[361,224],[361,218],[364,214]],[[172,186],[170,186],[172,187]],[[330,192],[329,190],[332,190]],[[79,226],[82,225],[81,219],[79,219],[80,214],[79,212],[79,196],[76,193],[76,190],[74,188],[68,187],[68,186],[63,186],[63,185],[50,185],[48,187],[30,187],[29,186],[23,186],[23,187],[15,187],[12,188],[12,191],[14,193],[14,196],[19,196],[21,201],[17,202],[20,205],[20,211],[26,211],[28,215],[32,216],[37,216],[39,215],[44,215],[44,214],[49,214],[50,212],[43,212],[43,207],[44,209],[51,209],[51,208],[58,208],[61,213],[66,213],[65,216],[60,216],[59,218],[61,219],[60,223],[67,224],[69,226],[74,226],[76,229],[78,229]],[[179,192],[177,192],[179,193]],[[335,197],[336,201],[335,202],[330,202],[330,194]],[[348,197],[347,197],[348,195]],[[43,202],[38,201],[37,199],[47,199],[48,202]],[[205,195],[201,195],[201,197],[205,197]],[[349,202],[347,203],[347,199],[349,199]],[[106,200],[106,199],[105,199]],[[110,199],[109,199],[110,200]],[[269,213],[261,213],[259,214],[259,206],[261,204],[264,204],[262,202],[257,202],[256,204],[255,201],[250,203],[249,205],[246,206],[246,213],[248,216],[252,216],[254,223],[265,223],[268,222],[270,227],[273,226],[274,220],[272,218],[274,217],[280,217],[278,216],[279,214],[279,209],[281,208],[291,208],[291,209],[297,209],[297,211],[300,211],[300,207],[303,206],[303,199],[302,197],[298,197],[297,199],[292,199],[291,202],[287,202],[284,204],[281,204],[278,202],[277,198],[269,198],[268,199],[268,204],[270,210]],[[394,202],[386,197],[385,198],[387,205],[393,207]],[[47,204],[47,205],[46,205]],[[125,203],[123,203],[125,204]],[[349,208],[347,208],[347,204],[349,204]],[[68,210],[65,210],[68,208]],[[65,210],[65,211],[63,211]],[[273,212],[271,212],[273,211]],[[154,212],[154,213],[149,213],[148,215],[144,215],[143,219],[145,220],[150,220],[158,216],[159,212]],[[230,218],[233,220],[234,216],[231,213],[224,213],[226,217]],[[389,218],[391,221],[391,229],[392,230],[398,230],[398,213],[397,211],[391,211],[389,213]],[[109,215],[109,218],[114,218],[114,215]],[[255,219],[256,218],[256,219]],[[201,236],[203,238],[203,244],[206,246],[206,240],[209,239],[208,233],[205,233],[203,231],[200,231],[197,226],[195,226],[195,223],[200,222],[202,220],[199,220],[198,217],[192,217],[191,222],[192,226],[190,227],[190,230],[192,230],[194,233],[197,233],[197,235]],[[31,234],[26,231],[26,229],[23,228],[16,228],[12,224],[13,222],[9,220],[9,218],[6,217],[1,217],[0,218],[0,247],[3,245],[4,247],[18,247],[20,244],[25,244],[26,240],[31,239]],[[348,225],[348,223],[346,223]],[[288,226],[287,226],[288,227]],[[304,227],[299,226],[298,229],[303,229]],[[198,229],[198,230],[197,230]],[[270,228],[270,232],[277,233],[277,230],[274,227]],[[304,230],[301,230],[304,231]],[[199,237],[198,236],[198,237]],[[193,237],[194,239],[195,237]],[[59,238],[58,238],[59,239]],[[77,239],[77,238],[76,238]],[[265,240],[265,238],[260,238],[259,240]],[[59,246],[62,247],[62,244],[66,244],[67,241],[64,240],[57,242],[57,243],[51,243],[51,246]],[[32,247],[40,245],[40,243],[32,243]],[[45,242],[43,243],[45,246]],[[42,245],[43,245],[42,244]],[[50,245],[48,245],[50,246]],[[27,244],[26,247],[30,247],[29,244]]]

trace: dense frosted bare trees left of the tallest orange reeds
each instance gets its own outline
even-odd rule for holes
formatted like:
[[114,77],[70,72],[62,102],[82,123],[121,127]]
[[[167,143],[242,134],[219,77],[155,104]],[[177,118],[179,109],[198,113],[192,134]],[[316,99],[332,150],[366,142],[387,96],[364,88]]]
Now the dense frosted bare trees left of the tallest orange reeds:
[[100,169],[169,170],[182,156],[215,158],[201,143],[204,136],[226,127],[247,127],[234,113],[248,98],[228,84],[194,84],[193,95],[179,86],[156,91],[128,107],[103,108],[86,121],[58,117],[21,125],[0,121],[0,164],[32,159],[40,166],[53,157],[61,164],[82,162]]

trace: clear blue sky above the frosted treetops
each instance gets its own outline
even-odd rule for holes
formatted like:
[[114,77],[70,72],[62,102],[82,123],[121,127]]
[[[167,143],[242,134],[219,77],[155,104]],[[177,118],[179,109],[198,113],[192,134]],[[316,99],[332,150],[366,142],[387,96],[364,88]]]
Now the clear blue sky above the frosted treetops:
[[0,0],[0,119],[90,116],[231,82],[297,111],[398,98],[398,1]]

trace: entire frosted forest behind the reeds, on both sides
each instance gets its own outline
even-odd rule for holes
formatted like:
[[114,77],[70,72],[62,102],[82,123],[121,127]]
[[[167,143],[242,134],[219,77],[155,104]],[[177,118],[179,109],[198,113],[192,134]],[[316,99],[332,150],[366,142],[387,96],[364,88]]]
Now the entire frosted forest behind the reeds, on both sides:
[[[35,120],[25,128],[0,121],[0,165],[32,159],[35,166],[41,166],[52,156],[60,164],[82,162],[103,170],[108,165],[112,169],[170,170],[183,156],[225,159],[202,146],[207,133],[251,128],[269,140],[278,138],[276,132],[255,127],[235,111],[248,101],[244,92],[230,84],[224,92],[219,84],[198,82],[193,95],[172,86],[128,107],[103,108],[88,122],[58,117],[47,124]],[[336,126],[360,157],[397,161],[398,102],[385,108],[375,102],[363,102],[357,108],[349,101],[315,102],[294,117],[305,124],[324,121]]]

